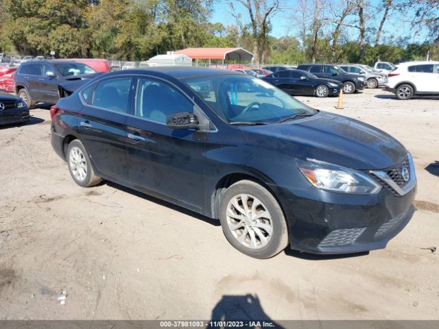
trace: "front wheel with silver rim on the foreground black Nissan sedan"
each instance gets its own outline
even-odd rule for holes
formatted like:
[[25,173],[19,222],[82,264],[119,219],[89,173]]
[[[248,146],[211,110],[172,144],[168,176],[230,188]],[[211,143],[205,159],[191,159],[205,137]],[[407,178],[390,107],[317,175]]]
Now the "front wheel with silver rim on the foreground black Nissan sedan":
[[[249,212],[250,216],[244,215]],[[258,218],[252,218],[255,212]],[[288,245],[281,206],[267,189],[251,180],[241,180],[227,188],[219,205],[219,221],[228,242],[247,256],[270,258]]]

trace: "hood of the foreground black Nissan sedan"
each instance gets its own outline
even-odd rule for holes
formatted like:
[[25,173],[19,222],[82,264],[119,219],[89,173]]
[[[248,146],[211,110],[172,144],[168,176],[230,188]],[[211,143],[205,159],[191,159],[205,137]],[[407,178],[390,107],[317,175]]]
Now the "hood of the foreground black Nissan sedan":
[[328,112],[319,112],[307,119],[242,128],[244,138],[257,147],[351,169],[387,169],[407,156],[405,147],[389,134]]

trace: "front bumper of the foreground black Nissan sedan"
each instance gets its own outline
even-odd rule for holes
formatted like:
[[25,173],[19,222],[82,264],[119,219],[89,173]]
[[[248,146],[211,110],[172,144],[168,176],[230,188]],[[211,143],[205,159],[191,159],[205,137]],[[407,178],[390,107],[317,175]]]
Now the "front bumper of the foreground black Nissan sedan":
[[308,198],[288,188],[276,191],[289,226],[290,247],[300,252],[348,254],[383,249],[415,210],[416,185],[399,197],[385,187],[377,195],[313,190]]

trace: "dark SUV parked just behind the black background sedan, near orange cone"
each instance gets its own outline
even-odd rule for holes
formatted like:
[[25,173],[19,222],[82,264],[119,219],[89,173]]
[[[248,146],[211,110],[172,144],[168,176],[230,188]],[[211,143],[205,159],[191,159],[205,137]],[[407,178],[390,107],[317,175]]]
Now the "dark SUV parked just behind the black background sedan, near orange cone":
[[343,93],[352,94],[357,90],[363,90],[367,86],[364,77],[350,74],[340,68],[340,66],[331,64],[300,64],[298,70],[309,71],[318,77],[327,77],[338,80],[343,84]]

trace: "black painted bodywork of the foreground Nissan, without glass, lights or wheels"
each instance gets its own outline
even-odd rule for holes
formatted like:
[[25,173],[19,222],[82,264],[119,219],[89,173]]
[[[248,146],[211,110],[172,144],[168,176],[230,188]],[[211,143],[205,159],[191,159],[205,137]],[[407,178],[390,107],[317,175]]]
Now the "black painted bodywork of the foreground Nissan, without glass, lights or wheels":
[[[76,92],[58,101],[61,110],[51,125],[51,143],[65,160],[67,143],[78,138],[102,178],[212,218],[218,218],[217,199],[224,186],[237,179],[259,182],[275,195],[285,213],[290,245],[301,251],[379,249],[403,229],[414,211],[416,186],[402,197],[386,188],[376,195],[332,193],[312,186],[295,162],[316,158],[367,172],[399,164],[407,156],[403,145],[375,127],[327,112],[273,125],[229,125],[180,81],[182,77],[214,74],[233,73],[162,68],[119,71],[101,77],[148,75],[167,80],[193,99],[210,119],[210,131],[173,130],[134,117],[132,106],[128,114],[93,108],[84,105]],[[93,127],[88,127],[91,123]],[[130,141],[128,134],[138,134],[144,141]],[[383,223],[397,216],[402,219],[392,230],[374,237]],[[318,247],[333,230],[359,227],[367,229],[357,243]]]

